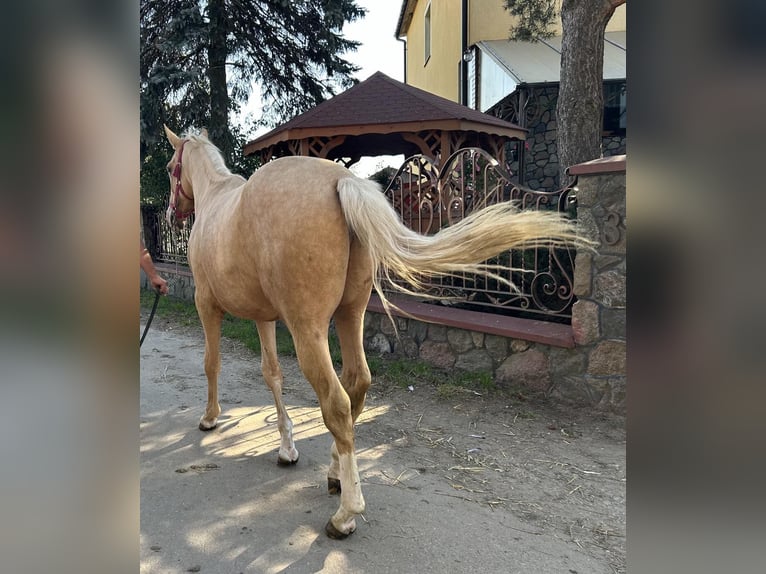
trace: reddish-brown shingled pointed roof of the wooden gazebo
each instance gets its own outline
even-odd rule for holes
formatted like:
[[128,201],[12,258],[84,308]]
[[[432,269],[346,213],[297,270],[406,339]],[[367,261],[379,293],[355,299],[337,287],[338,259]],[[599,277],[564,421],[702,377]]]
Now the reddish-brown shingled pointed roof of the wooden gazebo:
[[306,137],[432,129],[526,137],[526,130],[516,124],[375,72],[363,82],[249,142],[244,152],[251,155],[281,142]]

